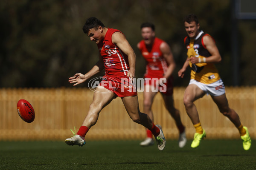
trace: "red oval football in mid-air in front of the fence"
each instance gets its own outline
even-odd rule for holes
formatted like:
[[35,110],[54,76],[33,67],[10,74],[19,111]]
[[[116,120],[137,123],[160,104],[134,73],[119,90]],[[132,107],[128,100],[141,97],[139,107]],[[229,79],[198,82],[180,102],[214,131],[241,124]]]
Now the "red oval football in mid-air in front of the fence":
[[35,111],[32,105],[25,99],[20,99],[17,103],[17,111],[21,119],[31,123],[35,119]]

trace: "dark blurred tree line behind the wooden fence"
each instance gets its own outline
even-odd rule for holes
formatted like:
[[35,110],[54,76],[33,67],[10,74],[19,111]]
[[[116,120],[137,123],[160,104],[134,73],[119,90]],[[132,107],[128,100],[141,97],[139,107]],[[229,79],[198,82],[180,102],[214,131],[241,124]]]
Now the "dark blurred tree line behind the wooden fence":
[[[232,85],[230,0],[3,0],[0,6],[1,88],[71,87],[68,77],[86,73],[98,60],[96,44],[82,31],[92,16],[125,34],[137,55],[137,78],[145,72],[145,61],[136,47],[140,25],[154,23],[156,36],[174,54],[175,86],[186,86],[189,69],[183,79],[177,71],[186,59],[183,18],[189,13],[197,14],[201,29],[214,37],[222,57],[216,66],[225,85]],[[253,20],[239,20],[239,85],[256,84],[256,77],[251,76],[256,69],[255,28]]]

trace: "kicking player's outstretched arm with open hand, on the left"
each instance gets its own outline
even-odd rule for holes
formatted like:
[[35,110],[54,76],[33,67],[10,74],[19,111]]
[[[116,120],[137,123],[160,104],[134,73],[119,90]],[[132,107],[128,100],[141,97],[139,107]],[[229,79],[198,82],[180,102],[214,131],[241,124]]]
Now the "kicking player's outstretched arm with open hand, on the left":
[[87,79],[92,77],[93,75],[99,73],[104,68],[102,57],[99,55],[99,61],[93,66],[93,68],[88,71],[86,74],[76,73],[73,77],[69,78],[70,83],[75,83],[73,86],[81,84],[85,82]]

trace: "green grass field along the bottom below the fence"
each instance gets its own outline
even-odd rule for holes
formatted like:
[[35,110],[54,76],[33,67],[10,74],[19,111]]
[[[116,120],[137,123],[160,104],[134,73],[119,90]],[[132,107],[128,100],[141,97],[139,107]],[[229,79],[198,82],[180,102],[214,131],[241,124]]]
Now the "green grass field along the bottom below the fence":
[[0,170],[256,170],[255,140],[248,151],[241,140],[191,142],[181,149],[167,141],[163,151],[139,141],[0,142]]

